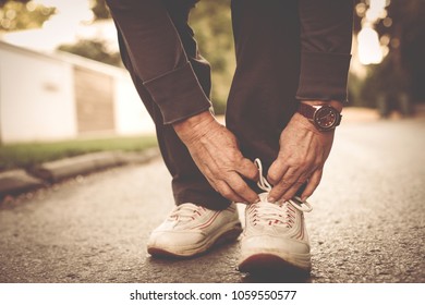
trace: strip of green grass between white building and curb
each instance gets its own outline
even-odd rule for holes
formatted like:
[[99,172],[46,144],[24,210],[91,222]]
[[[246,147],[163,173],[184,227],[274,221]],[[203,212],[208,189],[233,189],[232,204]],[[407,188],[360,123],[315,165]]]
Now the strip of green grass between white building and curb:
[[54,143],[0,144],[0,171],[25,168],[47,161],[95,151],[142,151],[157,146],[155,136],[75,139]]

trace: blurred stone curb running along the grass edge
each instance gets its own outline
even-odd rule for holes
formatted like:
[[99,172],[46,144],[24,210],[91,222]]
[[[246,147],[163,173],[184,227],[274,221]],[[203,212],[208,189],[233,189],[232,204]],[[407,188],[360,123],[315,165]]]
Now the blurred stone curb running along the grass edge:
[[46,162],[31,171],[23,169],[0,172],[0,198],[34,191],[65,179],[113,167],[146,163],[160,152],[157,147],[142,152],[100,151]]

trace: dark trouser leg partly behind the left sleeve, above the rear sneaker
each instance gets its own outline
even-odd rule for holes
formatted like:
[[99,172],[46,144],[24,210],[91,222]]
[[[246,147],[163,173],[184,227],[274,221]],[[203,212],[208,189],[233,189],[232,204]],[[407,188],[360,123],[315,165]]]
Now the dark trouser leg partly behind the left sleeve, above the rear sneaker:
[[[167,10],[165,13],[169,14],[178,30],[186,57],[205,95],[208,96],[210,90],[210,68],[208,62],[199,56],[193,32],[187,25],[189,12],[195,1],[175,3],[177,1],[162,0],[162,2]],[[163,123],[163,115],[158,105],[154,101],[149,90],[139,78],[139,73],[137,73],[127,51],[129,46],[123,38],[120,26],[117,26],[117,29],[124,65],[129,70],[143,102],[155,122],[159,148],[163,161],[172,175],[172,191],[175,204],[194,203],[210,209],[228,207],[229,200],[209,185],[194,163],[187,148],[175,134],[172,125]],[[127,35],[127,37],[131,37],[131,35]],[[163,89],[167,90],[167,88]]]

